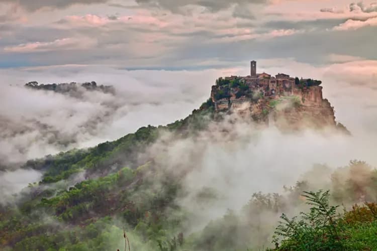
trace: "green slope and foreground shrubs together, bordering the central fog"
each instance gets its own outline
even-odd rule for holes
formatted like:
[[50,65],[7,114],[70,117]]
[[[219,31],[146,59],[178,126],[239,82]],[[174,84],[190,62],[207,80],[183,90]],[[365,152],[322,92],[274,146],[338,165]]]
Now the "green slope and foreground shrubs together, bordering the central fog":
[[[0,249],[123,250],[125,230],[131,250],[376,250],[377,172],[361,161],[313,167],[331,177],[331,193],[309,192],[316,187],[305,180],[284,194],[250,191],[241,211],[193,230],[192,212],[177,202],[187,170],[170,172],[158,161],[169,156],[147,149],[166,132],[195,139],[216,123],[213,115],[209,100],[167,126],[28,161],[24,168],[43,171],[43,179],[0,206]],[[218,198],[221,191],[204,189],[196,202],[205,208]],[[357,202],[368,203],[352,208]]]

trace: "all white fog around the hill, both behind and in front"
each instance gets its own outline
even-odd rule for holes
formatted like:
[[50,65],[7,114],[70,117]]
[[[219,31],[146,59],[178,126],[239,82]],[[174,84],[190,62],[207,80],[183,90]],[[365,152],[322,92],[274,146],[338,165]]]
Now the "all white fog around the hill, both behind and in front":
[[[360,64],[369,70],[365,71]],[[185,193],[176,202],[189,213],[187,234],[201,230],[228,209],[239,212],[255,192],[284,194],[284,186],[293,186],[300,180],[310,182],[313,189],[331,188],[331,172],[350,160],[377,166],[374,61],[314,67],[292,60],[265,60],[259,65],[259,71],[274,74],[289,69],[287,73],[291,75],[305,73],[303,77],[322,80],[324,97],[335,107],[337,120],[345,124],[352,136],[309,129],[284,134],[273,126],[260,130],[235,114],[221,123],[210,124],[209,130],[195,137],[162,133],[140,158],[153,157],[158,167],[181,179]],[[148,124],[166,124],[183,118],[209,97],[217,77],[246,75],[247,68],[174,72],[65,66],[2,73],[5,80],[0,92],[0,166],[7,171],[0,173],[0,193],[10,202],[14,193],[42,176],[33,170],[17,169],[18,163],[95,146]],[[113,85],[116,94],[85,92],[73,97],[23,87],[33,80],[93,80]],[[329,170],[318,172],[313,169],[317,164],[325,164]],[[70,186],[82,177],[80,173],[72,177],[73,183],[53,185]],[[344,180],[348,178],[344,176]],[[159,186],[158,180],[155,185]],[[217,196],[203,204],[198,201],[198,194],[205,189]],[[291,213],[298,210],[291,208]],[[278,215],[260,217],[268,227],[254,238],[265,238],[265,234],[271,233],[269,227],[274,226]]]

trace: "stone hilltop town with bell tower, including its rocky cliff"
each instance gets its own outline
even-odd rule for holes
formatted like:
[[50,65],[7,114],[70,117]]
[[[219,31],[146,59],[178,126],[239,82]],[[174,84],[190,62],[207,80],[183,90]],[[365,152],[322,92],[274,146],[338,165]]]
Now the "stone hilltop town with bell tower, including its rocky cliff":
[[335,121],[330,102],[322,96],[321,84],[319,80],[284,73],[257,73],[256,61],[251,61],[250,75],[217,79],[210,101],[216,113],[238,112],[281,129],[343,129]]

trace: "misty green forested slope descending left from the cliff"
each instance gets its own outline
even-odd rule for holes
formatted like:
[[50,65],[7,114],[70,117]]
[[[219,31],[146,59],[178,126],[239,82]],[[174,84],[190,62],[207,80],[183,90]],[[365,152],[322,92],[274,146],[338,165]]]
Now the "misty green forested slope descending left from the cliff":
[[139,154],[162,133],[195,135],[212,117],[209,99],[167,126],[28,161],[23,168],[43,171],[43,179],[25,188],[17,204],[0,204],[0,249],[117,250],[125,226],[137,250],[182,243],[182,233],[175,234],[184,217],[174,205],[179,178],[161,171],[155,156]]

